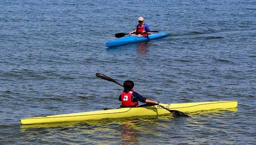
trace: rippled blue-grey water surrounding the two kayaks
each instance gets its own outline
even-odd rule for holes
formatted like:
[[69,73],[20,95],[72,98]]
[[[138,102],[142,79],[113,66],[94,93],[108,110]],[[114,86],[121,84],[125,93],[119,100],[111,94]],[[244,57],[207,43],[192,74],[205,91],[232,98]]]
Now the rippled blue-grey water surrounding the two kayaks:
[[[256,2],[0,2],[3,144],[256,144]],[[143,16],[169,37],[106,48]],[[135,81],[162,103],[238,100],[238,108],[173,116],[21,125],[20,119],[116,108]]]

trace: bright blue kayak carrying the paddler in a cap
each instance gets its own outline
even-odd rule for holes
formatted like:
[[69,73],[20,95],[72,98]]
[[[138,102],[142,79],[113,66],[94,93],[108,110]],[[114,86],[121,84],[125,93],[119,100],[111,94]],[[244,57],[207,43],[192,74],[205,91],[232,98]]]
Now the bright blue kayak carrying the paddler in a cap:
[[112,47],[112,46],[118,46],[118,45],[124,45],[124,44],[131,44],[131,43],[137,43],[137,42],[143,42],[143,41],[150,41],[153,39],[159,39],[167,37],[167,33],[161,33],[161,34],[152,34],[148,35],[148,37],[138,37],[135,35],[129,35],[123,38],[115,39],[112,41],[107,41],[106,46]]

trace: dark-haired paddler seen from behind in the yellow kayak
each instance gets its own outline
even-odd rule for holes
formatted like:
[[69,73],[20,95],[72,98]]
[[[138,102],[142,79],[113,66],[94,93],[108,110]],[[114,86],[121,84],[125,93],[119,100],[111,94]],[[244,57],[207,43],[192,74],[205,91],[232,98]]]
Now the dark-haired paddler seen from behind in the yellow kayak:
[[156,101],[149,100],[134,90],[133,81],[124,81],[124,91],[119,96],[118,100],[121,101],[121,107],[138,107],[138,101],[142,103],[158,104]]

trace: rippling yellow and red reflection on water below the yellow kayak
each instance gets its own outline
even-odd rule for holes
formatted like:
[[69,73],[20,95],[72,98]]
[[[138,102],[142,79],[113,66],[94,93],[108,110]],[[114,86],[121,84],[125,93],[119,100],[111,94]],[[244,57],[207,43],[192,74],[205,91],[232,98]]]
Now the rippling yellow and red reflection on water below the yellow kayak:
[[[190,113],[191,118],[174,117],[167,114],[163,116],[140,116],[85,122],[21,125],[21,135],[29,137],[30,141],[36,140],[36,136],[40,135],[41,140],[38,143],[51,140],[49,138],[51,136],[51,138],[70,139],[70,142],[73,143],[136,145],[143,142],[151,142],[151,138],[162,142],[163,132],[165,137],[169,136],[168,133],[174,133],[176,134],[175,136],[183,136],[184,131],[192,131],[194,134],[201,135],[197,128],[206,128],[211,119],[221,123],[221,119],[224,116],[230,117],[236,111],[237,108],[199,111]],[[219,131],[218,126],[214,125],[216,124],[212,125],[212,130]],[[179,130],[180,128],[182,130]],[[207,128],[209,129],[209,125]],[[143,139],[146,136],[149,140]],[[105,140],[102,140],[102,138]],[[166,142],[170,143],[170,140],[166,140]]]

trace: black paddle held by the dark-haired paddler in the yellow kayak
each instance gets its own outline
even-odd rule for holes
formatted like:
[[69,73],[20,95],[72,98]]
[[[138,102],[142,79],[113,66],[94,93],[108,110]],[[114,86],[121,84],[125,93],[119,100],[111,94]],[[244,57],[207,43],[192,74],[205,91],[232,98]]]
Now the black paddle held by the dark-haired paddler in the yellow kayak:
[[[118,82],[115,81],[114,79],[109,78],[108,76],[103,75],[103,74],[101,74],[101,73],[96,73],[96,76],[97,76],[98,78],[102,78],[102,79],[107,80],[107,81],[112,81],[112,82],[114,82],[115,84],[118,84],[118,85],[124,87],[122,84],[118,83]],[[142,95],[141,95],[141,96],[142,96]],[[144,96],[143,96],[143,97],[144,97]],[[145,98],[146,98],[146,97],[145,97]],[[178,111],[178,110],[170,110],[170,109],[168,109],[168,108],[166,108],[166,107],[164,107],[164,106],[162,106],[162,105],[160,105],[160,104],[158,104],[158,105],[159,105],[160,107],[162,107],[162,108],[168,110],[169,112],[173,113],[173,114],[176,115],[176,116],[186,116],[186,117],[189,117],[187,114],[185,114],[185,113],[183,113],[183,112],[181,112],[181,111]]]

